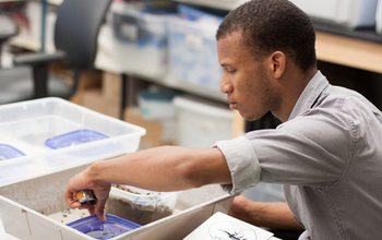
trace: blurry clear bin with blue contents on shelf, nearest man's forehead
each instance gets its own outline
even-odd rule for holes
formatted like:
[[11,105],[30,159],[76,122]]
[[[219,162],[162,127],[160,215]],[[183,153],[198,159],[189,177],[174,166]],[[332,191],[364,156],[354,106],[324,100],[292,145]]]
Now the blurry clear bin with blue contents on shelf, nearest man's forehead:
[[215,34],[222,16],[179,4],[169,23],[170,75],[175,81],[218,91],[223,70]]

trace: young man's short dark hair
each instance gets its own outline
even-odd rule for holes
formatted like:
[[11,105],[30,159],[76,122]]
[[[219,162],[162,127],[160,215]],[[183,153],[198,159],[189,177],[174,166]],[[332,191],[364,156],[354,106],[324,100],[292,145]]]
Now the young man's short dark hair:
[[243,44],[262,60],[283,51],[306,72],[317,65],[315,32],[309,16],[288,0],[251,0],[229,12],[220,23],[216,39],[240,31]]

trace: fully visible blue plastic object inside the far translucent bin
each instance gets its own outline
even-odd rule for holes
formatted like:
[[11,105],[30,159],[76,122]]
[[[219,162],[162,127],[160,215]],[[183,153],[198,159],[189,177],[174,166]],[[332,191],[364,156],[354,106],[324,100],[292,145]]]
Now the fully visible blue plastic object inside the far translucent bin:
[[45,145],[58,149],[104,139],[108,139],[108,136],[92,130],[83,129],[48,139]]

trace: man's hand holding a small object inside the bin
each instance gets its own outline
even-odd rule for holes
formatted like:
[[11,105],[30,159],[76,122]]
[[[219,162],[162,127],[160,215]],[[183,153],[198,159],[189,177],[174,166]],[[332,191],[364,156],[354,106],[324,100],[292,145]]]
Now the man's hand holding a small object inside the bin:
[[[106,220],[104,208],[109,196],[111,185],[109,183],[99,183],[92,179],[91,169],[77,173],[68,182],[65,200],[71,208],[87,208],[89,214],[96,214],[100,220]],[[75,193],[81,190],[93,190],[96,200],[95,205],[88,203],[81,204],[76,201]]]

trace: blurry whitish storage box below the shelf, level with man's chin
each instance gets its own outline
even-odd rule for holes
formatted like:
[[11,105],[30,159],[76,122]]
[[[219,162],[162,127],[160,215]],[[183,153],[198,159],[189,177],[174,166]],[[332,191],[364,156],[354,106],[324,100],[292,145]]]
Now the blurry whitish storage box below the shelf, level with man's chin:
[[216,141],[231,139],[234,111],[228,105],[193,96],[178,96],[177,144],[187,147],[206,148]]

